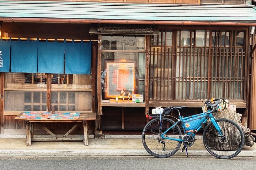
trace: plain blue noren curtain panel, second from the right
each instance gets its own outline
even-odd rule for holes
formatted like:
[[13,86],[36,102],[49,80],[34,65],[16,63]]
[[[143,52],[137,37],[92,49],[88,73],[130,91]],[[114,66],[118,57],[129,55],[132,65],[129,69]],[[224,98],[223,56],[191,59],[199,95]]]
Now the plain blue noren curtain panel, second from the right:
[[38,73],[64,73],[64,43],[38,43]]

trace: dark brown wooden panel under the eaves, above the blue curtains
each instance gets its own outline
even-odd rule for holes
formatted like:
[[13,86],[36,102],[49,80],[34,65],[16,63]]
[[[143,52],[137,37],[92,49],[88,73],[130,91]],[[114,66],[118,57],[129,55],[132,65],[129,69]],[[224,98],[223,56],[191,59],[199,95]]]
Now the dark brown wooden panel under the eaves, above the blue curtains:
[[98,40],[97,34],[89,34],[90,24],[63,23],[2,23],[2,36],[18,38],[91,39]]

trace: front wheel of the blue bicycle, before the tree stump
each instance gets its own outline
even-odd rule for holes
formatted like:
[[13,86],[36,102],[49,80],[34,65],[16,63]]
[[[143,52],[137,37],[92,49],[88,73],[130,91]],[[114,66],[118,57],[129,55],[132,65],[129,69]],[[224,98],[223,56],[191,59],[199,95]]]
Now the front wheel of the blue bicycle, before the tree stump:
[[[203,143],[207,151],[219,159],[230,159],[237,156],[244,147],[244,133],[234,121],[216,119],[225,137],[218,136],[213,123],[209,123],[203,131]],[[235,132],[235,135],[234,135]]]

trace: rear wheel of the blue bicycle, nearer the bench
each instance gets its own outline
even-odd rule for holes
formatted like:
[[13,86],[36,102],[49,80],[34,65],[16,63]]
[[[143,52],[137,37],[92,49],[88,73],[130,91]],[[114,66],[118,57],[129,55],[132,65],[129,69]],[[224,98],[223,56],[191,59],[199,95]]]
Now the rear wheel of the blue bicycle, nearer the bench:
[[[167,158],[174,155],[181,146],[180,141],[162,139],[164,144],[160,142],[160,135],[170,126],[174,125],[175,122],[168,118],[162,118],[162,129],[160,129],[160,118],[151,120],[143,129],[142,132],[142,143],[146,151],[157,158]],[[166,134],[167,137],[182,139],[182,133],[180,127],[175,125],[174,128],[169,130]]]

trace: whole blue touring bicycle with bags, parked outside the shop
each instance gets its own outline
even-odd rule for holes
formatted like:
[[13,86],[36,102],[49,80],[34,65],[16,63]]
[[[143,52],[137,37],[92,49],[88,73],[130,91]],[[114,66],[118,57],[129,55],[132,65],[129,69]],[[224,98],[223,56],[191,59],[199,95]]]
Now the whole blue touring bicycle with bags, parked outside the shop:
[[[244,147],[244,133],[234,121],[214,118],[224,102],[225,99],[206,101],[207,112],[189,117],[182,117],[180,114],[180,109],[185,106],[166,107],[162,114],[149,114],[149,122],[142,132],[144,148],[158,158],[174,155],[182,144],[182,152],[185,149],[187,152],[187,147],[191,147],[196,141],[196,133],[207,124],[203,130],[203,144],[207,151],[220,159],[235,157]],[[174,110],[179,115],[176,122],[167,118],[172,117],[169,114]]]

